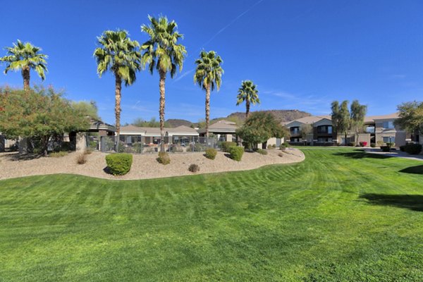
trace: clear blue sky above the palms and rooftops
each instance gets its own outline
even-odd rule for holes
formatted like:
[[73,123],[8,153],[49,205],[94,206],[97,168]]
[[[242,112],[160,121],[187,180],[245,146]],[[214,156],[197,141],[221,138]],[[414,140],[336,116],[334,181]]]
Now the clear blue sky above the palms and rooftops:
[[[253,80],[258,109],[329,114],[334,99],[359,99],[370,115],[389,114],[423,94],[423,1],[13,1],[1,3],[0,47],[16,39],[49,55],[44,85],[73,100],[94,99],[114,123],[114,77],[96,73],[97,36],[121,28],[140,43],[147,15],[176,20],[188,50],[182,73],[166,80],[166,118],[204,118],[204,92],[194,85],[202,49],[223,59],[223,85],[212,92],[212,118],[233,111],[242,80]],[[1,49],[0,56],[6,51]],[[3,68],[4,66],[2,66]],[[31,83],[41,80],[32,73]],[[20,73],[0,85],[21,87]],[[142,71],[123,87],[123,123],[158,117],[159,78]]]

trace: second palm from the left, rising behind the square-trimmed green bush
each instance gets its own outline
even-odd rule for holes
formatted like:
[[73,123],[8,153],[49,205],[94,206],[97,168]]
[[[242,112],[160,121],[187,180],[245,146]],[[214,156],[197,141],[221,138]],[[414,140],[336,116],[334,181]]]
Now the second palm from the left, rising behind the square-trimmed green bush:
[[116,151],[121,133],[121,90],[122,80],[125,86],[136,80],[136,72],[141,70],[140,44],[128,37],[126,30],[106,30],[97,37],[100,47],[94,50],[99,77],[111,71],[115,77],[115,116],[116,116]]

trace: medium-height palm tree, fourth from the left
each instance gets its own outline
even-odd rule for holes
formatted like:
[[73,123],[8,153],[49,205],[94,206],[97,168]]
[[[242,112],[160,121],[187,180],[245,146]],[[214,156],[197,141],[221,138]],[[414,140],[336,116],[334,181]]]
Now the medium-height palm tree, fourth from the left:
[[210,118],[210,92],[214,87],[219,90],[222,82],[223,63],[220,56],[214,51],[201,51],[200,59],[195,61],[194,83],[197,83],[203,90],[206,90],[206,137],[209,137],[209,118]]

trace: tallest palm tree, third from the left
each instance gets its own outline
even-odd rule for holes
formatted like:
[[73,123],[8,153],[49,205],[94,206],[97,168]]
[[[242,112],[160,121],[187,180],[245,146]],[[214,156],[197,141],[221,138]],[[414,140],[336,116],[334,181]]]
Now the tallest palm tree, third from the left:
[[187,51],[185,46],[178,44],[178,39],[183,38],[176,29],[175,21],[170,23],[164,16],[154,18],[148,16],[150,25],[142,25],[141,31],[149,35],[149,40],[142,44],[142,65],[149,65],[149,71],[153,74],[154,68],[159,72],[159,90],[160,90],[160,151],[164,152],[164,83],[166,74],[171,73],[171,78],[176,74],[177,68],[182,71],[183,60]]

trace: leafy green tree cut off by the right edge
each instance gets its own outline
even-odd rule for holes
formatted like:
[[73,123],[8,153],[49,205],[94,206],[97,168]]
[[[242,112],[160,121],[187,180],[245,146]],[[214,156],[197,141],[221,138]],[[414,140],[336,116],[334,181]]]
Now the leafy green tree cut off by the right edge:
[[399,118],[394,121],[410,133],[423,133],[423,102],[405,102],[398,105]]

